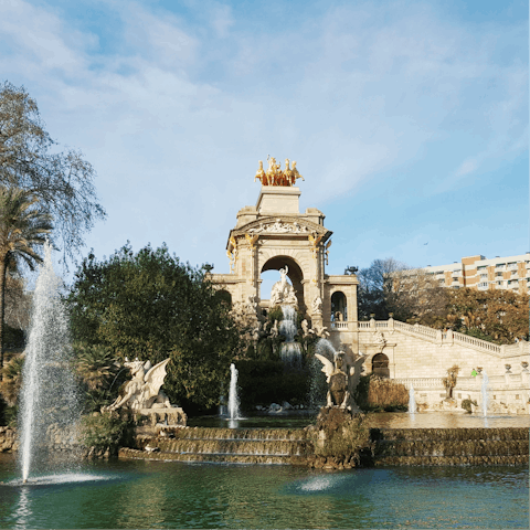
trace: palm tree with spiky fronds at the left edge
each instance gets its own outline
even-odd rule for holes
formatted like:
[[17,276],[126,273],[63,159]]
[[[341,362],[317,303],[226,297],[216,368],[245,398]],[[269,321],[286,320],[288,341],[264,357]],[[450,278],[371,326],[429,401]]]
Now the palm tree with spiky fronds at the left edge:
[[51,216],[39,208],[35,195],[20,188],[0,187],[0,370],[3,368],[6,275],[19,262],[33,271],[35,263],[42,262],[35,247],[45,243],[51,231]]

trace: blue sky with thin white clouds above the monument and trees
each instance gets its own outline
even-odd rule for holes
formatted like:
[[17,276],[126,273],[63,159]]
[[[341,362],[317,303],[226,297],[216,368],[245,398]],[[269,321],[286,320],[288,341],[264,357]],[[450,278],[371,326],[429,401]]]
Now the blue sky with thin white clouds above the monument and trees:
[[98,258],[163,242],[229,273],[258,160],[289,158],[328,274],[511,256],[529,242],[528,2],[0,2],[0,82],[81,149]]

